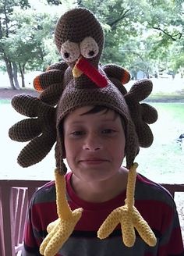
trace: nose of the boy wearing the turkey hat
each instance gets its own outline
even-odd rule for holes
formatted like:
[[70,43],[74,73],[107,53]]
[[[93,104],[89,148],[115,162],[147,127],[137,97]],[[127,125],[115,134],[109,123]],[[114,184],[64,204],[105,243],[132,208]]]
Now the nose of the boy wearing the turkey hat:
[[95,135],[87,136],[84,144],[83,149],[90,150],[90,151],[97,151],[102,148],[101,140],[99,137]]

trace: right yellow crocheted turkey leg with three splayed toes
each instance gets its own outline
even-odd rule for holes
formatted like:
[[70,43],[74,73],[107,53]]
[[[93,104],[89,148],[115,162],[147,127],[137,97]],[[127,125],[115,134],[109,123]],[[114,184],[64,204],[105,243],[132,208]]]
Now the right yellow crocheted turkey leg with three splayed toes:
[[120,223],[122,227],[122,240],[127,247],[132,247],[136,240],[135,229],[138,231],[142,239],[149,245],[154,247],[157,239],[154,236],[150,226],[140,215],[140,212],[134,206],[134,191],[136,185],[136,168],[134,163],[129,170],[129,177],[126,189],[125,205],[116,208],[104,220],[100,229],[97,231],[97,237],[104,239],[108,237],[115,227]]

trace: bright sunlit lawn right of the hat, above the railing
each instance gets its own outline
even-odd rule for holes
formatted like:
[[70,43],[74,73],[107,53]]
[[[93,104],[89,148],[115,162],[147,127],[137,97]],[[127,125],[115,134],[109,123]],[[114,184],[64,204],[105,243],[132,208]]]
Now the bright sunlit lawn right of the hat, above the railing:
[[140,148],[136,157],[139,172],[157,182],[181,183],[184,180],[184,103],[150,102],[158,112],[157,122],[150,125],[154,142],[150,148]]

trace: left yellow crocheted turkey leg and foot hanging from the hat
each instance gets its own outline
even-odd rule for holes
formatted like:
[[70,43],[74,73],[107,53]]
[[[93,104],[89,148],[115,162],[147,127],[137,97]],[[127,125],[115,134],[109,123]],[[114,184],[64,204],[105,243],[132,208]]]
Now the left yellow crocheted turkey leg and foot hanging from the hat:
[[44,256],[54,256],[69,238],[76,223],[79,221],[83,209],[78,208],[72,212],[65,198],[65,176],[55,170],[55,188],[58,219],[48,225],[48,236],[40,247]]

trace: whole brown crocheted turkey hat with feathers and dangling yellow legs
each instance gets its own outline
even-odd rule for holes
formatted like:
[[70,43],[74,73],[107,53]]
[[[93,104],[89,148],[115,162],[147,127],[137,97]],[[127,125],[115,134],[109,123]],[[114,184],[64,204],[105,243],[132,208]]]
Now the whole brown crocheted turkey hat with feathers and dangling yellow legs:
[[134,159],[140,147],[153,142],[148,124],[157,120],[157,111],[140,103],[152,91],[150,80],[139,80],[126,90],[123,84],[130,80],[129,72],[115,64],[99,64],[104,45],[101,24],[92,12],[77,8],[65,12],[55,28],[55,44],[63,61],[49,66],[46,72],[34,79],[34,87],[41,91],[38,98],[27,94],[12,98],[17,112],[29,117],[9,129],[9,137],[29,141],[18,156],[19,165],[27,167],[40,162],[55,144],[55,187],[58,219],[48,226],[48,236],[41,244],[41,254],[55,255],[65,243],[82,208],[73,212],[65,199],[65,148],[61,132],[62,120],[76,108],[102,105],[118,112],[125,123],[126,167],[129,169],[126,204],[115,209],[97,232],[101,239],[107,237],[117,223],[122,225],[123,242],[132,247],[134,228],[150,246],[156,238],[147,222],[134,206],[136,167]]

